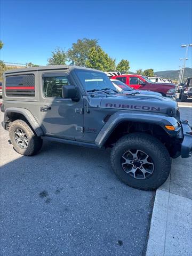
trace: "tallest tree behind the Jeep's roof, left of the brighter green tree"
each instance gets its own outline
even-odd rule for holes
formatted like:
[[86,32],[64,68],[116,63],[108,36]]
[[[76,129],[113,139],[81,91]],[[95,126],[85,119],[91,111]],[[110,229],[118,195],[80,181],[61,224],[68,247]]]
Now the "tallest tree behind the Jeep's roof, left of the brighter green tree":
[[97,39],[78,39],[77,43],[73,43],[67,52],[70,64],[85,67],[85,62],[92,47],[99,47]]

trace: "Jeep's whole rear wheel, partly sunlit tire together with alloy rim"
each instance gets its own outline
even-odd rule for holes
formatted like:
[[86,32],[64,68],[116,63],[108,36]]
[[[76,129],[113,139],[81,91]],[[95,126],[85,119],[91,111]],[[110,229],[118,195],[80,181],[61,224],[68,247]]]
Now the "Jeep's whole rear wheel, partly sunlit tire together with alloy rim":
[[42,147],[42,139],[23,120],[15,120],[9,128],[13,148],[21,155],[32,156]]

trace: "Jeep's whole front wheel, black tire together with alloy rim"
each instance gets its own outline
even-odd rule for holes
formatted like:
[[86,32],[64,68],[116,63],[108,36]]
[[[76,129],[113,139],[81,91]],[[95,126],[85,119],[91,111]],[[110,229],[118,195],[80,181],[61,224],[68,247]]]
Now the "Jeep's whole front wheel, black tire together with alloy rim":
[[166,147],[153,136],[131,133],[116,142],[111,166],[126,185],[152,190],[169,177],[171,158]]

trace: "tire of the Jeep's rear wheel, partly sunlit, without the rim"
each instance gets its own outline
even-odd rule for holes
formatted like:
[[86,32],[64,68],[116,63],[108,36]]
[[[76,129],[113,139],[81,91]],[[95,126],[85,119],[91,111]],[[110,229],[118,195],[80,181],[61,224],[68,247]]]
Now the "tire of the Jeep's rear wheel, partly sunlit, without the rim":
[[[14,132],[17,129],[22,129],[28,138],[28,147],[26,149],[22,149],[17,145],[16,140],[14,139]],[[25,156],[33,156],[38,153],[38,151],[42,147],[43,140],[38,137],[35,132],[31,129],[31,127],[23,120],[15,120],[11,123],[9,127],[9,136],[13,148],[21,155]]]

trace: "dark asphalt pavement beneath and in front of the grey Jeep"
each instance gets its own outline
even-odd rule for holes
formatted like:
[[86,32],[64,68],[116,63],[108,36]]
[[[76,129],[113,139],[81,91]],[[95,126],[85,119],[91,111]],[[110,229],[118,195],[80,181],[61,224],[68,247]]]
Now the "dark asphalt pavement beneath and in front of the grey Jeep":
[[119,181],[110,150],[46,141],[26,157],[0,132],[0,255],[145,255],[155,192]]

